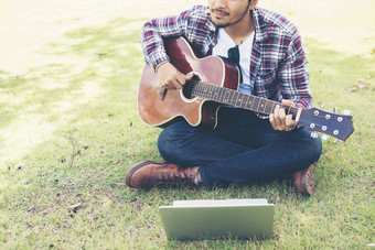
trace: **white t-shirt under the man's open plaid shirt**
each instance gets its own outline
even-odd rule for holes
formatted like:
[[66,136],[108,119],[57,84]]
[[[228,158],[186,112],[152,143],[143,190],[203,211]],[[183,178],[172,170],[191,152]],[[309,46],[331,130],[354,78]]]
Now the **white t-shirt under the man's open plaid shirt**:
[[[242,93],[251,94],[250,88],[250,63],[251,63],[251,50],[254,41],[254,32],[240,44],[239,50],[239,66],[243,74],[243,83],[239,84],[238,90]],[[212,54],[228,57],[228,50],[235,47],[236,43],[224,31],[218,29],[217,44],[213,47]]]

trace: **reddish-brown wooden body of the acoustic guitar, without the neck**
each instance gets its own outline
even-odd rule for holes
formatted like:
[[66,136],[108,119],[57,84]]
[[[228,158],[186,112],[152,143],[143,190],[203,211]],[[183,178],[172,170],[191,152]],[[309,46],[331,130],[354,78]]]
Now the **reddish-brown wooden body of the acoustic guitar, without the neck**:
[[[171,63],[183,74],[194,74],[199,80],[237,89],[239,72],[237,66],[217,56],[202,57],[186,40],[173,37],[164,41]],[[144,122],[167,127],[185,119],[191,126],[216,127],[218,102],[201,97],[186,97],[182,89],[165,90],[161,98],[158,74],[146,65],[139,85],[138,111]]]

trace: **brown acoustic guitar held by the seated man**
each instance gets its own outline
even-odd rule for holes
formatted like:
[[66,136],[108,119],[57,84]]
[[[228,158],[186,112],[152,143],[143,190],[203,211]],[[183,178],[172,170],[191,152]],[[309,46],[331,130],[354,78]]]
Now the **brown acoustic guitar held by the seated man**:
[[[153,68],[146,64],[139,85],[138,111],[144,122],[167,127],[181,119],[191,126],[215,128],[221,105],[229,105],[270,115],[280,102],[239,93],[239,70],[236,65],[218,56],[202,57],[183,37],[164,40],[171,63],[183,74],[193,74],[182,89],[161,89]],[[293,119],[311,131],[318,131],[345,141],[354,131],[347,115],[321,109],[283,107]],[[318,137],[312,132],[312,137]]]

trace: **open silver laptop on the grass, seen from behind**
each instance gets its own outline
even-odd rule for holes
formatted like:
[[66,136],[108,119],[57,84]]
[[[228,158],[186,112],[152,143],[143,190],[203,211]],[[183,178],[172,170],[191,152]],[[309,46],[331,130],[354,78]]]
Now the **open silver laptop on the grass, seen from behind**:
[[160,206],[168,239],[269,239],[275,205],[267,199],[175,200]]

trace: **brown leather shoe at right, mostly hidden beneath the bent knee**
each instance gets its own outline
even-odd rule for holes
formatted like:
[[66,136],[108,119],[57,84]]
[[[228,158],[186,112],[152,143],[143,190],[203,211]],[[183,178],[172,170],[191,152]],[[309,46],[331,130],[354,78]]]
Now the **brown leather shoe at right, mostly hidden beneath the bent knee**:
[[302,194],[312,195],[315,192],[314,166],[310,165],[293,174],[297,189]]

